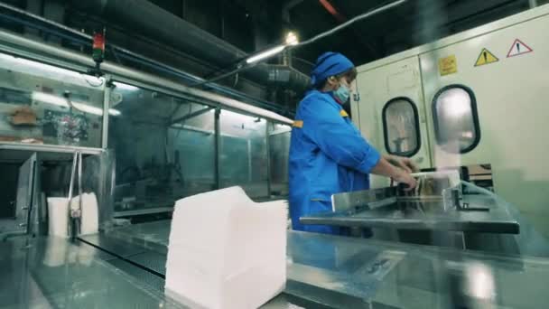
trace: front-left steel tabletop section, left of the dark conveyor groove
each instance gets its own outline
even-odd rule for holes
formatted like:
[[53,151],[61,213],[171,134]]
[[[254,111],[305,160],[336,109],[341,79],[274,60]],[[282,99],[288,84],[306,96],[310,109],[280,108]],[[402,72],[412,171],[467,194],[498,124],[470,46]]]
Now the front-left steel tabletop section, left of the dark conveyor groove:
[[109,262],[112,258],[67,239],[4,242],[0,249],[0,307],[181,307],[113,267]]

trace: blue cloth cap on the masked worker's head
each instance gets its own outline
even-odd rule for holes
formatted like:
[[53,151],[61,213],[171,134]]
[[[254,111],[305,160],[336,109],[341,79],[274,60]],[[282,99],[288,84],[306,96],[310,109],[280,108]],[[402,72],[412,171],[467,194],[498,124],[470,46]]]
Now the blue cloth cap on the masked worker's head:
[[317,85],[327,80],[330,76],[344,73],[354,68],[353,62],[349,58],[340,54],[340,52],[324,52],[317,59],[311,72],[311,84]]

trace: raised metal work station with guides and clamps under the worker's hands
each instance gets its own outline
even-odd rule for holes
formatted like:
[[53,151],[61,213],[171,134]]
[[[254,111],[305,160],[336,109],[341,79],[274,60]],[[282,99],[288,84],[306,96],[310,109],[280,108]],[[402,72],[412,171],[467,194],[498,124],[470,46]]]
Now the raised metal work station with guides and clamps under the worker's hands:
[[[504,254],[549,254],[547,243],[529,251],[516,239],[521,223],[509,205],[484,189],[468,183],[474,192],[463,194],[457,171],[414,174],[411,191],[392,186],[332,195],[333,212],[301,218],[303,224],[350,229],[373,229],[374,239],[477,249]],[[522,251],[521,251],[522,248]]]

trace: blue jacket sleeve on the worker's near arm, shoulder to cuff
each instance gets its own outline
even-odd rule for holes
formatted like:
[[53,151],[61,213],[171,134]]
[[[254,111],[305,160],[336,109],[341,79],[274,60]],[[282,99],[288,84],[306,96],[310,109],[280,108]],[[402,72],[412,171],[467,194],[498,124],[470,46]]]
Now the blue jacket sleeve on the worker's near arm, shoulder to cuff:
[[302,102],[303,134],[337,164],[370,173],[381,158],[364,137],[349,126],[340,111],[323,100]]

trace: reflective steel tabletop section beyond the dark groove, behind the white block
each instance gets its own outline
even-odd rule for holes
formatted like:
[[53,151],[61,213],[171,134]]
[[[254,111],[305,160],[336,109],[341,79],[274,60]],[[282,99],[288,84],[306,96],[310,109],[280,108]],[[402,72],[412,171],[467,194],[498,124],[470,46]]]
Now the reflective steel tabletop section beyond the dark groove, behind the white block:
[[[162,247],[170,223],[128,226],[109,236]],[[143,265],[156,263],[145,259]],[[549,261],[288,231],[287,274],[286,290],[273,302],[294,297],[290,303],[304,307],[539,308],[546,301]],[[523,291],[517,285],[530,287]]]

